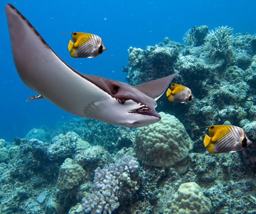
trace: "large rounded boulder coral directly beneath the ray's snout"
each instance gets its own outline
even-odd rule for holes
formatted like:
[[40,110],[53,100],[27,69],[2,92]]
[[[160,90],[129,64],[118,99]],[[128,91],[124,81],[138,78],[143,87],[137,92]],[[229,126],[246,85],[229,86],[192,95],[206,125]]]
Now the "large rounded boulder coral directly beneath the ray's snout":
[[161,121],[138,128],[134,155],[149,166],[172,167],[188,157],[193,141],[176,117],[160,115]]

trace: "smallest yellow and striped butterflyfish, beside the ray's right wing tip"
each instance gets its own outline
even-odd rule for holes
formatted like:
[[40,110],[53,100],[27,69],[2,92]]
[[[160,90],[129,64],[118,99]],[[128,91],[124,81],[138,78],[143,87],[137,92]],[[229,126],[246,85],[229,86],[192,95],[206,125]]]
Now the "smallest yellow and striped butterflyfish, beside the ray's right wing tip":
[[171,83],[171,89],[166,91],[166,97],[170,102],[187,103],[193,99],[190,88],[181,84]]

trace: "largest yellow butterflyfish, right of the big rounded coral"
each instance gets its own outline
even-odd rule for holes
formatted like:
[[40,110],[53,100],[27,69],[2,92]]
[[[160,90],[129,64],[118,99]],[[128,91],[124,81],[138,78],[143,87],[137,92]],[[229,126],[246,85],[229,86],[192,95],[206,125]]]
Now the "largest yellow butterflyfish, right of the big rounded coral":
[[238,126],[210,126],[209,135],[204,137],[204,146],[210,153],[238,152],[250,145],[244,130]]

